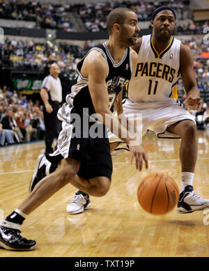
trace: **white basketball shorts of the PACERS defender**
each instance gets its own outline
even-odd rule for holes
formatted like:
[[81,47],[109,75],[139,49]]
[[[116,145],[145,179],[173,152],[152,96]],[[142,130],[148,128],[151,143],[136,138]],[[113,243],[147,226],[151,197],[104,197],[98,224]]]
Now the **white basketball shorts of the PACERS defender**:
[[[185,120],[195,123],[194,116],[175,99],[169,99],[167,102],[132,102],[127,99],[123,104],[123,114],[130,123],[133,123],[133,121],[136,123],[135,118],[140,118],[137,121],[137,132],[141,133],[141,137],[150,130],[155,132],[159,138],[180,139],[177,134],[168,132],[167,128]],[[110,143],[122,141],[111,132],[108,136]]]

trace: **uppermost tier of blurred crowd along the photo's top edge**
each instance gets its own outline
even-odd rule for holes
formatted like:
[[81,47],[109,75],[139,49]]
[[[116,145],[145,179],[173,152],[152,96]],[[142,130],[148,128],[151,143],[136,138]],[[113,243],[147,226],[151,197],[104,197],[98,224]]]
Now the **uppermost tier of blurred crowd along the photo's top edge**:
[[[206,24],[192,21],[189,1],[164,1],[176,11],[180,22],[176,30],[179,33],[202,33]],[[0,19],[36,22],[34,27],[57,29],[62,31],[79,31],[72,22],[72,14],[79,17],[86,31],[98,32],[107,30],[107,15],[113,8],[127,7],[137,13],[139,22],[150,21],[153,9],[162,5],[161,1],[98,1],[98,3],[53,4],[41,1],[0,0]]]

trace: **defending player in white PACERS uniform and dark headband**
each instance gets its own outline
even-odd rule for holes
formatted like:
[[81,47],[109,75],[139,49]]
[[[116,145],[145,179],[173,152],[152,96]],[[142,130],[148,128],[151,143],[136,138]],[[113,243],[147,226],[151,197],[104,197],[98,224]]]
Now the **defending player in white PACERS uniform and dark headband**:
[[[196,85],[193,58],[189,47],[172,36],[176,21],[174,10],[162,6],[153,11],[152,35],[143,36],[132,47],[138,54],[137,64],[127,89],[128,99],[123,104],[123,114],[142,114],[143,135],[147,130],[158,138],[181,139],[181,185],[178,212],[189,213],[209,208],[209,200],[194,194],[193,180],[197,158],[196,123],[177,100],[177,82],[181,75],[187,104],[200,110],[202,100]],[[129,116],[130,120],[130,116]],[[110,134],[109,141],[118,139]],[[67,211],[76,214],[88,209],[88,196],[79,196],[68,204]]]

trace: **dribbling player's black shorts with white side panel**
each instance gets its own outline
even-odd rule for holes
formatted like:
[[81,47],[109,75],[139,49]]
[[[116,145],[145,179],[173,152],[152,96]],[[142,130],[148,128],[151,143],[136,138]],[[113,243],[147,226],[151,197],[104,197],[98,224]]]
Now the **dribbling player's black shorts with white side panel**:
[[[65,108],[65,111],[68,111],[68,108]],[[62,112],[62,117],[65,111]],[[73,114],[79,114],[81,119],[79,126],[82,129],[78,129],[78,123],[73,119],[70,125],[65,122],[63,130],[59,134],[56,150],[52,155],[47,155],[47,159],[57,167],[61,159],[70,157],[81,162],[77,175],[86,179],[105,176],[111,180],[113,166],[106,127],[102,123],[90,121],[86,115],[83,116],[82,109],[72,107],[70,116]],[[75,134],[76,130],[79,131],[79,134]],[[90,131],[95,131],[93,136]],[[72,136],[72,134],[76,136]],[[72,138],[70,139],[69,136]]]

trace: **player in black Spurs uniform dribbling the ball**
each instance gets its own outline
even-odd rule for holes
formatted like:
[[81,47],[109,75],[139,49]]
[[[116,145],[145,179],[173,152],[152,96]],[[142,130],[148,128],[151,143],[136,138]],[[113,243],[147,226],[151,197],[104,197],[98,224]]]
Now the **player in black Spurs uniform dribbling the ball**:
[[[112,162],[106,128],[114,132],[114,127],[118,127],[118,137],[129,145],[130,162],[135,157],[137,169],[141,170],[143,161],[148,168],[147,157],[137,141],[137,136],[126,130],[110,111],[118,87],[130,79],[128,47],[134,45],[137,40],[137,23],[137,15],[132,10],[112,10],[107,19],[109,40],[88,52],[79,63],[77,84],[72,87],[72,93],[68,95],[66,103],[58,113],[59,120],[62,121],[62,130],[57,148],[48,157],[55,166],[58,164],[58,167],[52,174],[43,178],[20,206],[0,222],[1,247],[12,250],[35,249],[36,241],[22,238],[20,226],[26,215],[68,183],[93,196],[103,196],[108,192]],[[109,60],[106,59],[107,55]],[[132,52],[132,55],[134,59],[135,53]],[[118,72],[123,77],[119,76]],[[80,117],[81,125],[72,123],[72,114],[73,117]],[[94,116],[95,114],[98,115]],[[90,120],[90,115],[94,121]],[[92,137],[92,127],[102,131],[102,137]],[[74,132],[77,137],[72,137]]]

